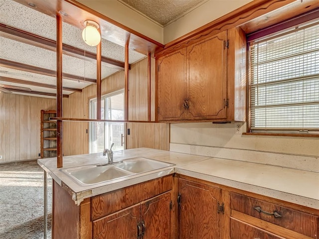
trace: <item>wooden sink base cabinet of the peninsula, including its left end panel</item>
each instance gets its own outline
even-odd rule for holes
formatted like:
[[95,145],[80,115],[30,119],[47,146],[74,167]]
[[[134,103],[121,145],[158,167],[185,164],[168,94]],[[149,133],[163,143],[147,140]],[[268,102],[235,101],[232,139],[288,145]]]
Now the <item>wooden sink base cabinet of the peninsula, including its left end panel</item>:
[[53,183],[52,239],[173,239],[173,175],[85,199]]

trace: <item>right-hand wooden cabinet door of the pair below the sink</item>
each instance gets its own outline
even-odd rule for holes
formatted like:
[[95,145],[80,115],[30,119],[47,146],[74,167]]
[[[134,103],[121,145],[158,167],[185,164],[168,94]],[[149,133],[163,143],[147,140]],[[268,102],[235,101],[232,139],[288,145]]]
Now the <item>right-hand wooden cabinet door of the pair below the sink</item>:
[[171,239],[171,193],[167,192],[142,204],[143,239]]

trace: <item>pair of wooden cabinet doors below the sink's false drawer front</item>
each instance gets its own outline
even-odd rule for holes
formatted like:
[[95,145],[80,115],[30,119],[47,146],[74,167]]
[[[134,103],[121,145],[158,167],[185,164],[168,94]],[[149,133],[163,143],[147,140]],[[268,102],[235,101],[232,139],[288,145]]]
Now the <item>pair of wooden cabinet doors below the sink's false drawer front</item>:
[[93,222],[93,239],[170,239],[171,193]]

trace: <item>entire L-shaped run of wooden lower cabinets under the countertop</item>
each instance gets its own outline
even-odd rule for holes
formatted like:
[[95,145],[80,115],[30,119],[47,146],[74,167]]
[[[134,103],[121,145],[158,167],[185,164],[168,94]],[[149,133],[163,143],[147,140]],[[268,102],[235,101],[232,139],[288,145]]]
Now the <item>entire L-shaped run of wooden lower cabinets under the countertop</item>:
[[319,239],[319,210],[175,174],[74,204],[53,183],[52,239]]

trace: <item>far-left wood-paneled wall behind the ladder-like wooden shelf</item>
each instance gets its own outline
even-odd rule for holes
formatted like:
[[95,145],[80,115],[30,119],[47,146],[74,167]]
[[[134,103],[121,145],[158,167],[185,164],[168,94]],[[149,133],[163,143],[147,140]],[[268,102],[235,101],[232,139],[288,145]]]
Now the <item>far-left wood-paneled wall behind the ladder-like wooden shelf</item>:
[[0,163],[39,158],[41,110],[56,100],[0,93]]

